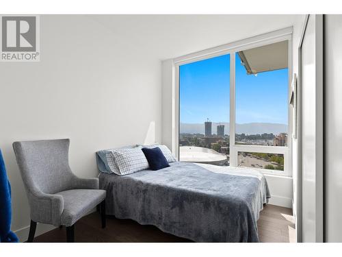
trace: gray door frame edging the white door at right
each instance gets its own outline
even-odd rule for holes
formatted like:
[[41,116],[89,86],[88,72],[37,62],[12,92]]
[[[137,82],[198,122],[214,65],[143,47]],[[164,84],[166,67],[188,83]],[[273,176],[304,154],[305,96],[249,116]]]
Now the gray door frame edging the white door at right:
[[[302,217],[302,43],[304,40],[308,19],[315,15],[315,90],[316,90],[316,134],[315,134],[315,242],[324,242],[324,90],[323,90],[323,15],[306,15],[300,44],[298,47],[298,222],[297,222],[297,241],[303,241],[303,217]],[[318,150],[318,151],[317,151]]]

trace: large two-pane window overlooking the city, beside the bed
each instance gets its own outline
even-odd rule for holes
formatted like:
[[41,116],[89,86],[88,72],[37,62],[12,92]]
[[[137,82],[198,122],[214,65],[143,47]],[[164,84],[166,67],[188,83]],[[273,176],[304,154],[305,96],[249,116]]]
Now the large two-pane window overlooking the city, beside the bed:
[[288,49],[282,40],[179,65],[181,161],[289,174]]

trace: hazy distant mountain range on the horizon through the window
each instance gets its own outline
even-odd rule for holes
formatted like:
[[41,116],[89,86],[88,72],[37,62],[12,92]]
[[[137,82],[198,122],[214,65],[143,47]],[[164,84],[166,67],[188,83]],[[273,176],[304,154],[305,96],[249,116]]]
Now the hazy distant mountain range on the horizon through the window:
[[[224,125],[224,134],[229,134],[229,123],[212,123],[211,133],[217,134],[217,125]],[[205,134],[205,124],[204,123],[181,123],[180,124],[181,133],[191,133],[191,134]],[[287,125],[280,123],[244,123],[235,125],[235,133],[237,134],[263,134],[263,133],[273,133],[280,134],[282,132],[287,132]]]

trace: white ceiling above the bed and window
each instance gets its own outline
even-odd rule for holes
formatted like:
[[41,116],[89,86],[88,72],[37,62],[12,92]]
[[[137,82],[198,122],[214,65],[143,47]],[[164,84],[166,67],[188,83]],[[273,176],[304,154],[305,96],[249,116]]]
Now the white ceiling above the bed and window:
[[301,15],[96,15],[92,19],[160,60],[295,25]]

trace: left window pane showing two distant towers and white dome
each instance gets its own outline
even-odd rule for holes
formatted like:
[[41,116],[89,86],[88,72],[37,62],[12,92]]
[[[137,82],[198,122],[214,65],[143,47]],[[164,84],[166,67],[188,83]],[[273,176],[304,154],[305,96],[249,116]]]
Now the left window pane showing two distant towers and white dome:
[[179,159],[228,165],[230,56],[179,67]]

